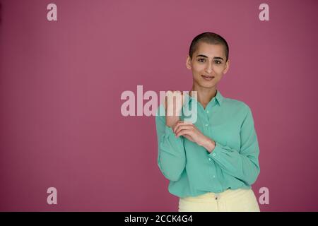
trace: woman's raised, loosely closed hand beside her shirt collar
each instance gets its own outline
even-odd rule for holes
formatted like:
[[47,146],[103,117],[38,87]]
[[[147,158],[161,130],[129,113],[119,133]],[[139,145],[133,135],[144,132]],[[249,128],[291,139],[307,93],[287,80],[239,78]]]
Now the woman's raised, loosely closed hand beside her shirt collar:
[[184,95],[182,92],[175,90],[166,92],[163,106],[165,107],[165,124],[167,126],[172,127],[179,121],[183,103]]

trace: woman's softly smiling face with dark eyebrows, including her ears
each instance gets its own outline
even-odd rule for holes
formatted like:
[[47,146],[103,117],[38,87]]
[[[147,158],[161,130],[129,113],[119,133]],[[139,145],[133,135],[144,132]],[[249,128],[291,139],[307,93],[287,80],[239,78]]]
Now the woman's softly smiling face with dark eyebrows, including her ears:
[[225,47],[222,44],[199,42],[192,59],[187,57],[187,69],[192,70],[194,85],[202,88],[216,86],[228,71],[230,62],[225,61]]

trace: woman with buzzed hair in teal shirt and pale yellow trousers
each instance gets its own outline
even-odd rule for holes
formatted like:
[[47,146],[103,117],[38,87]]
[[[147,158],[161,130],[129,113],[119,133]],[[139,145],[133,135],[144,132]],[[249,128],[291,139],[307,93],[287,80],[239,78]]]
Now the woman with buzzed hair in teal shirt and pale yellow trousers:
[[[251,189],[259,175],[251,109],[245,102],[223,97],[217,88],[230,66],[228,51],[220,35],[204,32],[194,37],[186,63],[192,70],[192,90],[183,94],[188,98],[182,98],[179,109],[166,101],[155,117],[158,166],[170,180],[170,193],[179,197],[180,212],[259,211]],[[186,105],[197,106],[193,124],[184,121]],[[167,114],[169,107],[175,114]]]

